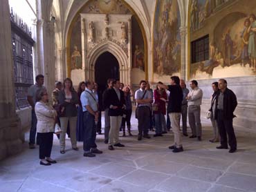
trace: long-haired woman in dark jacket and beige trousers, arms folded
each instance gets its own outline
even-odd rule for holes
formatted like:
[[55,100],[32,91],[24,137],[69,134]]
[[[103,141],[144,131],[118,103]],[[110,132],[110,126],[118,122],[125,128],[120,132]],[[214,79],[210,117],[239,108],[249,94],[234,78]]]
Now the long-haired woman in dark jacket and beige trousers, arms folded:
[[59,93],[59,102],[61,106],[60,125],[62,133],[60,133],[60,153],[65,153],[66,128],[70,126],[71,145],[73,150],[78,151],[76,141],[76,122],[78,96],[73,88],[71,79],[66,78],[63,83],[64,89]]

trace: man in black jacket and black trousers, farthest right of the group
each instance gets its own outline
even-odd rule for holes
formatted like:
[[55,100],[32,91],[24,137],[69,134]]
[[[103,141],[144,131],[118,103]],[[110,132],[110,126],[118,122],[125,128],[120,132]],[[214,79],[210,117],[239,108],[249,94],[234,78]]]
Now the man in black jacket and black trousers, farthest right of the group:
[[[228,148],[229,153],[237,151],[237,139],[233,128],[234,111],[237,107],[237,97],[235,93],[227,88],[228,84],[225,79],[219,79],[219,94],[216,99],[216,110],[214,117],[217,118],[219,135],[221,136],[221,145],[216,148]],[[227,140],[228,134],[228,140]]]

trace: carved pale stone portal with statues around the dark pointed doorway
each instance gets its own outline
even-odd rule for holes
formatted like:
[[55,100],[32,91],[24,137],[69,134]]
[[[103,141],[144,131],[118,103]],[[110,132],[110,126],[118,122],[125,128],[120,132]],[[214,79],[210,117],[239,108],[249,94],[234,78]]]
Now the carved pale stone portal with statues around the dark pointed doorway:
[[81,14],[82,66],[95,80],[95,62],[103,52],[116,57],[120,81],[131,84],[131,15]]

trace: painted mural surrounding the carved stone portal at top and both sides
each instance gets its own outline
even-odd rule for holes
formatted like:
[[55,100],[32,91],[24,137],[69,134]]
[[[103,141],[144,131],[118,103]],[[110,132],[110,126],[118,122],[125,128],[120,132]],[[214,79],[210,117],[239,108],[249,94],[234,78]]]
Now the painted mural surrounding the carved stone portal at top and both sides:
[[[92,0],[86,3],[81,13],[99,13],[99,14],[132,14],[125,3],[120,0],[98,1]],[[145,76],[145,44],[143,34],[140,30],[138,21],[133,16],[132,24],[132,68],[133,73]],[[71,70],[82,69],[82,44],[81,44],[81,21],[77,17],[71,31],[71,44],[69,48]],[[141,77],[141,76],[140,76]]]

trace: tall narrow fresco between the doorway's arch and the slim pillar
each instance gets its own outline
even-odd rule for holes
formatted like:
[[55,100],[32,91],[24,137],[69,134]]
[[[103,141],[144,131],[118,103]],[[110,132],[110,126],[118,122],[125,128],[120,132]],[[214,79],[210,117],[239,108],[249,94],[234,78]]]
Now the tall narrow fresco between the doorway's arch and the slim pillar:
[[154,15],[154,79],[181,73],[181,19],[177,0],[157,1]]

